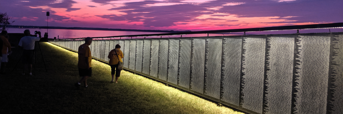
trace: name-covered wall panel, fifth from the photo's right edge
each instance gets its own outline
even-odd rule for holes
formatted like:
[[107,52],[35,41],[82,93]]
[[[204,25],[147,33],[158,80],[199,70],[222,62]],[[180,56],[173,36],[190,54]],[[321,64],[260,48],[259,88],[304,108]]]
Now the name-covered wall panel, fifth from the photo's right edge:
[[223,94],[221,100],[236,106],[239,105],[241,47],[241,38],[223,38]]

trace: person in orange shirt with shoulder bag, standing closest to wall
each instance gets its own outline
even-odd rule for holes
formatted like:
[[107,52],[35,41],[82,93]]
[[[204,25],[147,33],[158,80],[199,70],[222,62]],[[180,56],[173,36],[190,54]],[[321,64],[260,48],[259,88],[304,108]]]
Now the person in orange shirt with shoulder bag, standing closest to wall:
[[114,76],[116,76],[116,83],[120,76],[120,70],[117,69],[118,63],[123,62],[121,58],[124,57],[123,52],[120,50],[120,45],[117,44],[115,49],[111,50],[107,56],[109,58],[109,65],[111,66],[112,83],[114,82]]

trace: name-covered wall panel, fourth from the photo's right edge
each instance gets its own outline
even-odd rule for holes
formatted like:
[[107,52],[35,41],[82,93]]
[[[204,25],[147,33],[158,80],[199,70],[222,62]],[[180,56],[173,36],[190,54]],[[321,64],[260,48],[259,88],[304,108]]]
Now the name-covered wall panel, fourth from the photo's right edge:
[[243,38],[241,106],[262,114],[264,82],[264,38]]

